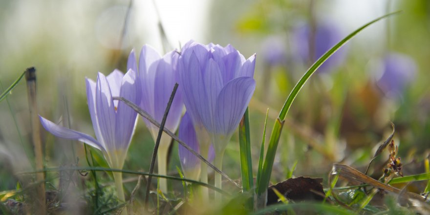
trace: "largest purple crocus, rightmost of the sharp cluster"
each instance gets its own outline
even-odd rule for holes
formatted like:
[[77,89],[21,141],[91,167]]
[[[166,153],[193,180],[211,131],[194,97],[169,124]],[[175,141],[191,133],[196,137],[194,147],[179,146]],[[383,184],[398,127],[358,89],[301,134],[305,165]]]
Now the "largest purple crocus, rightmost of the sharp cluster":
[[[255,55],[245,60],[231,45],[222,47],[190,41],[179,57],[179,84],[200,152],[207,157],[212,143],[215,166],[219,169],[227,143],[254,93],[254,68]],[[207,180],[206,168],[202,165],[203,182]],[[220,176],[215,176],[217,187],[221,187]]]

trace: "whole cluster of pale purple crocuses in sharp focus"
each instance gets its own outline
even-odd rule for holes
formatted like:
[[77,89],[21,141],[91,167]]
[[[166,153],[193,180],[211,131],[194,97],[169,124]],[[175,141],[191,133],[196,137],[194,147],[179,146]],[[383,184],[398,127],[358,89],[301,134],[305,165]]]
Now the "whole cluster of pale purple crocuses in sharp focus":
[[[136,112],[120,96],[137,104],[155,120],[161,121],[175,83],[178,93],[173,100],[165,127],[175,131],[183,107],[187,109],[179,128],[179,137],[194,151],[212,160],[221,169],[222,156],[255,90],[255,55],[245,59],[233,46],[190,41],[181,53],[160,56],[151,46],[143,46],[138,62],[131,51],[124,75],[119,70],[107,77],[98,73],[97,81],[86,79],[88,109],[96,138],[67,129],[40,117],[43,127],[55,136],[84,142],[103,152],[109,166],[122,169],[136,125]],[[155,140],[158,128],[144,119]],[[158,151],[158,173],[167,174],[167,156],[171,138],[162,135]],[[207,166],[183,147],[179,156],[185,176],[207,182]],[[220,175],[216,183],[220,187]],[[114,173],[118,198],[125,201],[122,175]],[[167,192],[166,181],[160,188]]]

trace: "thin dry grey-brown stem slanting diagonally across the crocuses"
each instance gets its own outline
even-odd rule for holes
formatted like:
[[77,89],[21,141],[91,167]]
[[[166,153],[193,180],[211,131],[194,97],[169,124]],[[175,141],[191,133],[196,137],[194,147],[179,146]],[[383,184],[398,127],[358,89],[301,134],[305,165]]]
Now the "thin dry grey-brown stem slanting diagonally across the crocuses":
[[[133,104],[129,100],[125,99],[124,97],[112,97],[112,99],[124,102],[130,108],[133,108],[134,111],[136,111],[137,113],[139,113],[139,115],[141,115],[142,117],[145,117],[148,121],[150,121],[152,125],[160,128],[160,126],[161,126],[160,123],[158,123],[156,120],[154,120],[154,118],[152,118],[150,114],[148,114],[145,110],[139,108],[136,104]],[[220,173],[222,176],[224,176],[227,180],[229,180],[230,182],[232,182],[238,188],[242,188],[242,186],[240,186],[239,184],[237,184],[236,181],[234,181],[233,179],[231,179],[224,172],[221,172],[218,168],[216,168],[213,164],[211,164],[208,160],[206,160],[203,156],[201,156],[201,154],[199,154],[196,151],[194,151],[193,149],[191,149],[186,143],[184,143],[184,141],[180,140],[172,131],[170,131],[169,129],[166,129],[166,128],[163,128],[163,131],[167,135],[169,135],[170,137],[172,137],[178,144],[180,144],[181,146],[183,146],[185,149],[187,149],[188,151],[190,151],[191,153],[193,153],[194,156],[196,156],[198,159],[200,159],[205,164],[207,164],[215,172]]]

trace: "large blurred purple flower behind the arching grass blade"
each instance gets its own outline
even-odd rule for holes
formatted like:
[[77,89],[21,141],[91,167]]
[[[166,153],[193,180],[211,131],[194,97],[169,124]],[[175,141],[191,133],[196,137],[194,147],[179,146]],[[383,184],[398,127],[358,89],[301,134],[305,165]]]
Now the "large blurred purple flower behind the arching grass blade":
[[[306,66],[313,64],[343,39],[336,25],[327,22],[317,23],[315,30],[312,30],[308,24],[301,25],[294,29],[292,37],[294,57]],[[330,72],[341,65],[345,59],[345,52],[345,47],[336,51],[318,71]]]

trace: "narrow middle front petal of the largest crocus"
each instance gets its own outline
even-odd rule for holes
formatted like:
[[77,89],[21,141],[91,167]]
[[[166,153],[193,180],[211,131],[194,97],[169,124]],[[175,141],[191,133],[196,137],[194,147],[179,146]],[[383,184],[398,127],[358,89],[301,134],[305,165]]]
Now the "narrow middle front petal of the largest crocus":
[[202,113],[203,124],[208,131],[215,131],[215,107],[219,92],[221,91],[222,75],[218,65],[209,59],[204,72],[204,85],[207,93],[207,109]]

